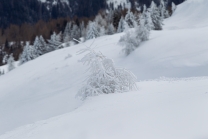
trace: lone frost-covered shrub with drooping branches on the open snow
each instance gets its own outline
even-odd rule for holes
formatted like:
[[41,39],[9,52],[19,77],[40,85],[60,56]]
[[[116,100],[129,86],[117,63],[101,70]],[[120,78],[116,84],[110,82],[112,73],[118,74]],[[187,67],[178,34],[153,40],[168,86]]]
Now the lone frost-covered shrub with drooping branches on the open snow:
[[112,59],[97,53],[90,48],[80,53],[88,52],[81,62],[86,64],[90,72],[85,85],[79,90],[78,97],[126,92],[136,89],[136,77],[128,70],[116,68]]

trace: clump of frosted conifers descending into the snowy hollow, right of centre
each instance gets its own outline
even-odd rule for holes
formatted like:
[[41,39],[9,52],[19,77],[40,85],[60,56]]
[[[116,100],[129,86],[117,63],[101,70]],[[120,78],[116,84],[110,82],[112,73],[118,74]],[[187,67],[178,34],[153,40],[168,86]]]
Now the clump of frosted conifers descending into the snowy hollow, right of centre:
[[[175,10],[175,5],[172,4],[172,6],[172,9]],[[143,12],[139,15],[138,24],[135,25],[135,30],[127,30],[125,35],[120,38],[119,43],[123,46],[122,51],[124,54],[129,55],[140,46],[141,42],[147,41],[151,30],[162,30],[162,22],[164,18],[168,18],[170,13],[173,12],[174,11],[169,12],[167,10],[167,5],[163,0],[161,0],[159,6],[157,6],[153,1],[149,8],[146,8],[146,5],[144,5]],[[127,21],[123,22],[123,24],[125,24]],[[134,20],[134,22],[136,21]]]

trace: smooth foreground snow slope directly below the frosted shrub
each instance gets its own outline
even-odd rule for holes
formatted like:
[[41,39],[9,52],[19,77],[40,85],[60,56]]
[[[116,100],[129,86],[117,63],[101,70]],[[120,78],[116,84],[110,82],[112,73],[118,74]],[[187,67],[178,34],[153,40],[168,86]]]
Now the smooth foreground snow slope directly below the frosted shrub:
[[139,82],[139,92],[101,95],[71,113],[1,139],[207,139],[208,78]]

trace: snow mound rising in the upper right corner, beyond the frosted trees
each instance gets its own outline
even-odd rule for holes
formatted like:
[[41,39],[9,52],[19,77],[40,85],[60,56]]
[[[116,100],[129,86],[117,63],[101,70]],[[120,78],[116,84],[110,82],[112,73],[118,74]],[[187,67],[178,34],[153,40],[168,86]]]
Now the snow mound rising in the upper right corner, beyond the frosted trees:
[[198,28],[208,26],[208,0],[187,0],[177,6],[171,18],[165,22],[166,29]]

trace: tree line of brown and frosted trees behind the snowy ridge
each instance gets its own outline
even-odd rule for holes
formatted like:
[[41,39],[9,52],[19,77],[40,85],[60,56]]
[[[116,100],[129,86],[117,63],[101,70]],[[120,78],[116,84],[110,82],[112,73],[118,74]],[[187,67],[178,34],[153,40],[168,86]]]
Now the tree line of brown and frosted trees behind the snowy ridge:
[[[144,7],[141,8],[142,11],[146,11]],[[168,10],[168,4],[163,0],[158,7],[160,17],[167,18],[171,15],[172,11]],[[91,18],[58,18],[49,22],[40,20],[34,25],[10,25],[9,28],[0,30],[0,62],[3,64],[2,59],[12,54],[15,60],[25,63],[45,53],[77,43],[73,38],[84,41],[123,32],[140,24],[141,13],[139,10],[121,7],[100,11]],[[162,29],[159,20],[153,20],[155,30]]]

